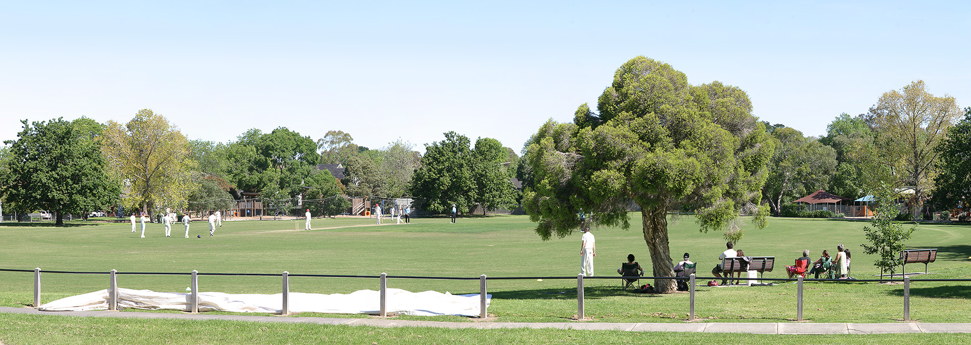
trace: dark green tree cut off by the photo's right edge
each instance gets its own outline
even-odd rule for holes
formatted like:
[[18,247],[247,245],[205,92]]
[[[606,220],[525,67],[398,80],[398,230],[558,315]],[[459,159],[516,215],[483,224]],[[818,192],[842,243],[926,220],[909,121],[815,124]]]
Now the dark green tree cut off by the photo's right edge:
[[971,107],[964,118],[948,130],[948,138],[935,148],[941,157],[934,177],[933,203],[950,209],[971,201]]

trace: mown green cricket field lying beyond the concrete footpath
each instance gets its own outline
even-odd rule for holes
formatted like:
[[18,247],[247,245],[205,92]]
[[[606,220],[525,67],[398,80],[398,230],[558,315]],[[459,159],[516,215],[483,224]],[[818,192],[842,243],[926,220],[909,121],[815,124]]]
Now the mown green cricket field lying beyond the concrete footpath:
[[[632,216],[638,216],[632,213]],[[293,221],[223,222],[217,235],[208,236],[204,222],[195,222],[191,238],[181,226],[172,238],[162,226],[151,224],[147,238],[130,232],[127,224],[54,228],[49,224],[0,226],[0,267],[47,270],[250,272],[310,274],[425,275],[425,276],[576,276],[579,235],[542,241],[525,216],[460,219],[414,219],[411,225],[370,226],[372,220],[337,218],[314,220],[314,231]],[[385,222],[386,223],[386,222]],[[638,222],[632,222],[638,224]],[[784,265],[803,249],[818,257],[843,243],[854,249],[853,275],[873,278],[879,272],[873,258],[859,248],[866,222],[773,218],[769,227],[748,227],[736,248],[750,256],[775,256],[777,269],[765,277],[785,277]],[[971,227],[921,225],[907,242],[912,248],[938,248],[932,274],[918,277],[967,278],[971,260]],[[195,235],[204,235],[196,238]],[[617,276],[627,254],[651,274],[640,229],[595,229],[597,275]],[[717,263],[724,249],[720,233],[702,234],[693,217],[681,216],[670,226],[671,252],[684,252],[699,263],[699,275]],[[923,270],[922,265],[908,270]],[[183,292],[187,276],[119,275],[120,287]],[[105,289],[106,274],[43,274],[42,302]],[[200,277],[201,291],[275,294],[279,277]],[[478,293],[478,281],[389,279],[388,286],[409,291],[435,290],[452,294]],[[682,322],[687,295],[634,295],[621,291],[619,279],[586,280],[586,316],[596,322]],[[378,288],[377,279],[293,277],[291,292],[350,293]],[[32,302],[33,274],[0,272],[0,305]],[[696,317],[706,322],[787,322],[795,318],[795,286],[699,287]],[[489,314],[496,322],[564,322],[575,318],[575,280],[489,281],[493,295]],[[971,322],[971,283],[915,282],[911,288],[911,318],[923,322]],[[877,283],[807,283],[804,318],[811,322],[892,322],[902,317],[901,285]],[[323,314],[321,314],[323,315]],[[308,316],[302,314],[301,316]],[[336,316],[336,315],[326,315]],[[362,317],[362,316],[347,316]],[[469,321],[464,317],[409,317],[435,321]]]

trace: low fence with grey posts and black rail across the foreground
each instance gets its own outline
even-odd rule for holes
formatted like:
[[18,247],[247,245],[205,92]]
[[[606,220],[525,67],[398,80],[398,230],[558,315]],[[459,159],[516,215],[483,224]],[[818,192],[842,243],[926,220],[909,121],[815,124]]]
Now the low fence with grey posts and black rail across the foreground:
[[[33,272],[34,273],[34,307],[39,308],[41,304],[41,268],[34,269],[14,269],[14,268],[0,268],[0,271],[10,271],[10,272]],[[68,271],[68,270],[44,270],[44,273],[58,273],[58,274],[108,274],[109,275],[109,310],[117,310],[117,275],[118,274],[130,274],[130,275],[189,275],[191,276],[190,289],[191,297],[190,300],[190,312],[199,312],[199,296],[198,287],[200,275],[210,275],[210,276],[274,276],[281,277],[283,279],[283,308],[281,310],[282,315],[289,314],[289,277],[321,277],[321,278],[365,278],[365,279],[380,279],[380,291],[381,291],[381,316],[387,316],[386,312],[386,301],[387,301],[387,279],[432,279],[432,280],[479,280],[480,282],[480,318],[485,319],[486,317],[486,281],[487,280],[533,280],[533,279],[576,279],[577,280],[577,316],[578,319],[583,320],[584,317],[584,280],[586,279],[671,279],[671,280],[686,280],[688,286],[688,320],[694,320],[694,290],[696,287],[695,281],[697,279],[708,280],[708,279],[723,279],[720,277],[696,277],[691,274],[686,277],[653,277],[653,276],[591,276],[586,277],[583,274],[577,274],[577,276],[530,276],[530,277],[487,277],[485,274],[478,277],[441,277],[441,276],[419,276],[419,275],[387,275],[386,273],[381,273],[381,275],[350,275],[350,274],[293,274],[287,271],[283,273],[209,273],[209,272],[199,272],[192,270],[191,272],[119,272],[115,269],[110,271]],[[758,280],[758,281],[780,281],[780,282],[796,282],[796,321],[802,321],[802,297],[803,297],[803,283],[804,282],[884,282],[886,280],[882,279],[807,279],[803,277],[797,278],[760,278],[760,277],[748,277],[748,278],[732,278],[732,280]],[[971,279],[911,279],[909,276],[904,276],[904,294],[903,294],[903,321],[910,321],[910,283],[914,282],[971,282]]]

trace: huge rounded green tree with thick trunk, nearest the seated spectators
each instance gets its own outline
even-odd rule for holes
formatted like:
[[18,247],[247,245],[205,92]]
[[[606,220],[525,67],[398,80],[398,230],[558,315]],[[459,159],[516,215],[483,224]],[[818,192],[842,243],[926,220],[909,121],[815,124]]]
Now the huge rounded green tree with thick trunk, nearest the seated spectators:
[[[526,142],[534,187],[523,204],[543,239],[577,230],[581,208],[594,225],[628,229],[627,208],[636,204],[653,275],[673,276],[672,207],[695,210],[705,232],[738,228],[741,214],[765,226],[759,190],[774,145],[745,91],[690,85],[670,65],[638,56],[620,66],[597,110],[582,105],[574,123],[550,120]],[[670,279],[654,286],[676,287]]]

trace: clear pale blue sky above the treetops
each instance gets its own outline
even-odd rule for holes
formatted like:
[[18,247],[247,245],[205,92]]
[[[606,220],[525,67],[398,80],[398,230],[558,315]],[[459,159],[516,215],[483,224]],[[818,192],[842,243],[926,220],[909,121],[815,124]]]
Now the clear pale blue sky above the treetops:
[[645,55],[820,136],[923,79],[971,106],[964,2],[0,1],[0,140],[20,119],[287,127],[372,148],[455,131],[519,150]]

